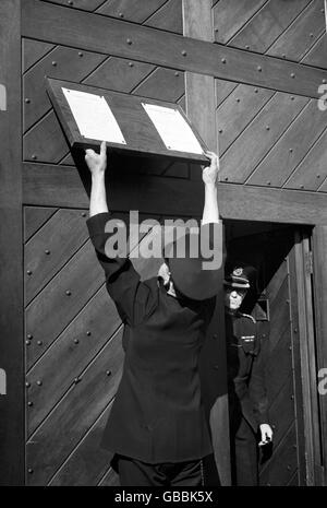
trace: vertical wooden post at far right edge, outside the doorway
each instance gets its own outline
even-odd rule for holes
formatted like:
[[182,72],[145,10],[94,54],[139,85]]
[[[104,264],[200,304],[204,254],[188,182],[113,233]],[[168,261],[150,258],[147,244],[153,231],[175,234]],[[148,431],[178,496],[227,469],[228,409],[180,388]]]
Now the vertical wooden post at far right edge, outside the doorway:
[[[318,382],[326,379],[327,369],[327,225],[313,231],[313,277],[316,321],[316,352]],[[325,370],[323,370],[325,369]],[[319,373],[322,378],[319,378]],[[325,373],[325,374],[324,374]],[[324,375],[324,377],[323,377]],[[326,382],[322,383],[326,388]],[[327,486],[327,393],[318,391],[320,436],[323,446],[324,482]]]

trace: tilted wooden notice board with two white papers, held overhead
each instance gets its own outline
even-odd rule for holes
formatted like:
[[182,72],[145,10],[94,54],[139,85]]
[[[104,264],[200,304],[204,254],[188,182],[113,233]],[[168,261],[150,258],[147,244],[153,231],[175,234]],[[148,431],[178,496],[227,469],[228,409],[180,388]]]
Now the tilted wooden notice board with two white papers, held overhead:
[[174,103],[49,78],[46,82],[72,149],[99,146],[106,139],[114,151],[208,163],[204,141]]

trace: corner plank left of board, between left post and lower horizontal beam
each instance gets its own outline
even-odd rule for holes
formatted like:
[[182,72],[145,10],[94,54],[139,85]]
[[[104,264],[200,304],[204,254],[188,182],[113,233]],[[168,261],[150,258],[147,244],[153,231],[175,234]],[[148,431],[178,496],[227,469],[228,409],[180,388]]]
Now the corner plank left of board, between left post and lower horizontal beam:
[[53,109],[23,137],[24,161],[56,164],[66,155],[68,150],[68,142]]

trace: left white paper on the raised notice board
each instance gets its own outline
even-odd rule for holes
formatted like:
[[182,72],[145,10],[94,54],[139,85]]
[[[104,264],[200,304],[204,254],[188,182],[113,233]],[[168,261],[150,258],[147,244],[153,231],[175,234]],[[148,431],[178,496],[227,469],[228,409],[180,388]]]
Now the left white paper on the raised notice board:
[[63,87],[62,92],[84,138],[126,144],[105,97]]

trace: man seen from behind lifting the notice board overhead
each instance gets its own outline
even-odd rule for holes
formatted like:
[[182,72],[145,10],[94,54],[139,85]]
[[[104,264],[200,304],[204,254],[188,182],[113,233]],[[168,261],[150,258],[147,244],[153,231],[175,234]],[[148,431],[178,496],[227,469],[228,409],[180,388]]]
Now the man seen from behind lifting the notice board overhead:
[[[219,236],[218,157],[211,152],[207,156],[202,231],[211,233],[217,226]],[[112,465],[121,485],[203,485],[203,458],[213,448],[197,363],[215,307],[218,271],[201,270],[201,257],[192,258],[187,251],[185,258],[169,258],[159,277],[141,282],[129,258],[110,257],[106,251],[110,234],[105,233],[110,218],[106,143],[100,154],[87,150],[85,160],[92,173],[89,236],[124,322],[123,374],[102,446],[114,453]],[[219,265],[221,250],[220,243]]]

